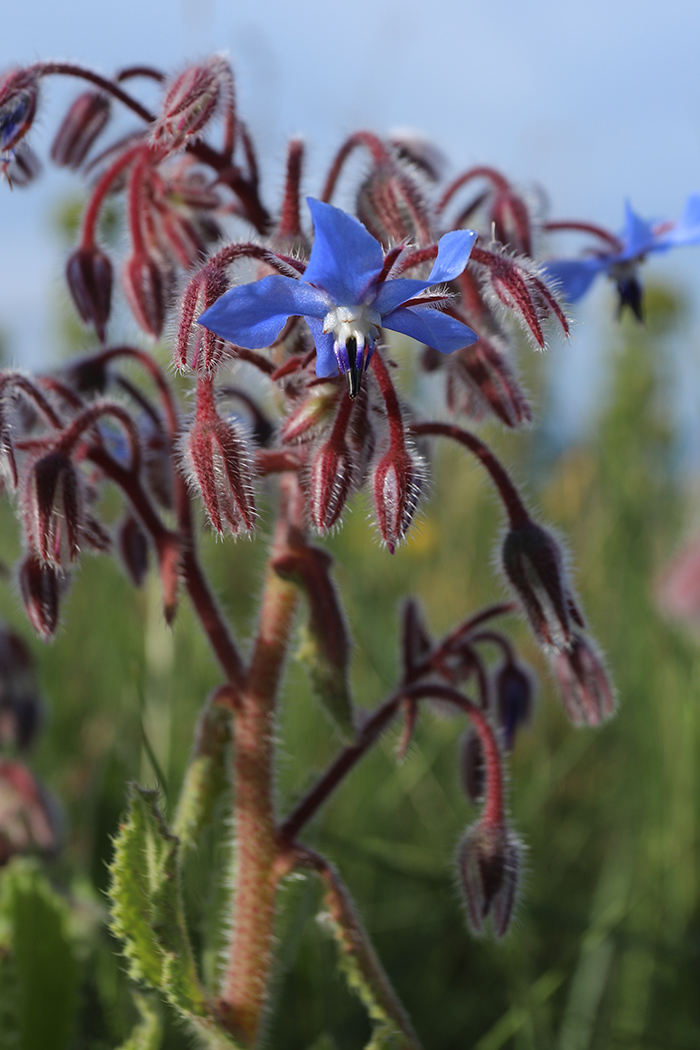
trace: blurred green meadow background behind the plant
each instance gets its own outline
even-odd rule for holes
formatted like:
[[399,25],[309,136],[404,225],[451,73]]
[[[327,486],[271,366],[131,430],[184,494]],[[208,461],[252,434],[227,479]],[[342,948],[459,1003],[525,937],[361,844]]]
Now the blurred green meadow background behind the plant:
[[[425,1050],[700,1046],[699,649],[654,602],[654,582],[690,522],[685,480],[674,469],[664,363],[683,324],[682,302],[651,289],[648,312],[644,329],[611,323],[611,376],[588,440],[556,453],[542,429],[483,428],[543,520],[568,537],[620,698],[602,729],[572,728],[527,630],[513,621],[540,689],[511,763],[513,822],[528,849],[505,943],[471,937],[457,891],[455,845],[475,817],[460,785],[461,720],[426,712],[403,762],[388,733],[306,833],[343,874]],[[542,404],[547,359],[526,352],[522,360]],[[372,709],[396,682],[404,596],[420,596],[436,634],[502,596],[491,568],[499,530],[488,481],[451,448],[437,449],[421,527],[396,556],[379,548],[365,508],[355,506],[327,546],[352,626],[361,707]],[[0,561],[12,565],[18,553],[3,501]],[[207,536],[203,556],[246,637],[264,543]],[[105,558],[84,560],[51,646],[33,639],[9,585],[0,615],[39,660],[48,717],[31,763],[64,813],[63,848],[41,865],[65,903],[63,936],[77,967],[63,1045],[112,1050],[137,1014],[105,926],[110,837],[128,781],[157,783],[174,804],[197,711],[219,676],[187,602],[168,629],[156,580],[134,592]],[[278,736],[284,813],[339,747],[295,660]],[[226,826],[221,814],[219,835],[209,836],[187,873],[189,917],[209,972],[225,937]],[[316,922],[319,901],[311,878],[292,880],[283,894],[271,1050],[357,1050],[369,1035]],[[0,924],[0,964],[1,934]],[[0,1018],[1,1011],[0,1003]],[[166,1047],[190,1045],[166,1025]]]

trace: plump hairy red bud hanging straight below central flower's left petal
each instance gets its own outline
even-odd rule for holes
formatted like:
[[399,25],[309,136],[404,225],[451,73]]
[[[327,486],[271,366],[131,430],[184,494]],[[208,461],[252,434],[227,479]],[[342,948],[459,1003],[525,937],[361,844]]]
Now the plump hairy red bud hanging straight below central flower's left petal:
[[239,430],[214,412],[197,412],[186,436],[185,464],[217,532],[238,536],[255,527],[253,464]]

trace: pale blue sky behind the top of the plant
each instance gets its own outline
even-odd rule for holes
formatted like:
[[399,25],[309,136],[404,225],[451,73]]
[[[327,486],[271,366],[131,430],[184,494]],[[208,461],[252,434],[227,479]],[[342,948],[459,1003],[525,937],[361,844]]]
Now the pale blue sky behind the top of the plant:
[[[24,0],[5,4],[2,21],[0,68],[67,58],[105,72],[135,62],[171,69],[228,52],[271,200],[290,134],[309,143],[313,192],[343,135],[360,126],[413,127],[453,171],[495,165],[544,188],[553,217],[614,229],[625,196],[646,217],[674,217],[700,190],[697,0]],[[40,153],[75,90],[47,84],[33,134]],[[60,257],[44,228],[51,196],[71,185],[47,170],[30,191],[0,188],[0,329],[22,358],[47,338],[41,303]],[[700,295],[700,250],[665,256],[650,271]],[[580,311],[574,342],[555,349],[563,397],[591,370],[611,303],[601,288]],[[699,326],[696,312],[696,345]]]

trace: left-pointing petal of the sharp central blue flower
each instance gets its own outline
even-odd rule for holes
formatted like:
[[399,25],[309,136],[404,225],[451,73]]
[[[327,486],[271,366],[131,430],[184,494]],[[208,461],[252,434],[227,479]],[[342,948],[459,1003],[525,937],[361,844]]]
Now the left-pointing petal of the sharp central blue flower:
[[259,350],[275,341],[290,317],[324,317],[328,309],[327,297],[311,285],[273,274],[225,292],[198,322],[237,346]]

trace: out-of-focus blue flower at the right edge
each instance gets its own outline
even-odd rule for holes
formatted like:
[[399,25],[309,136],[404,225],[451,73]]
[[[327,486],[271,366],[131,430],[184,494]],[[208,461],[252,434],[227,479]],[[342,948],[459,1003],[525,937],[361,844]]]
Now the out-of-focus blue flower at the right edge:
[[617,250],[596,252],[582,259],[551,259],[546,270],[570,302],[586,295],[599,273],[608,274],[617,285],[620,309],[629,306],[637,317],[641,317],[638,265],[651,252],[665,252],[681,245],[697,244],[700,244],[700,193],[693,193],[687,198],[677,223],[648,223],[635,214],[628,202],[624,230]]

